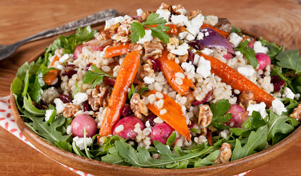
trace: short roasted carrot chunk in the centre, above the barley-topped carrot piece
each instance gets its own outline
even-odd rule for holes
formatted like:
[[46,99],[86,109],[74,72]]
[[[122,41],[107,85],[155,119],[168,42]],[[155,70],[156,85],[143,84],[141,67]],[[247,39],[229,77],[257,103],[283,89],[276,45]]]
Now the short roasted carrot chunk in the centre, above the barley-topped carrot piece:
[[195,86],[193,82],[188,79],[186,76],[184,78],[180,78],[183,82],[182,84],[178,84],[176,82],[176,73],[180,72],[184,75],[184,71],[179,64],[175,62],[174,59],[168,60],[167,55],[168,51],[164,50],[162,56],[157,59],[158,66],[163,71],[164,77],[167,79],[168,83],[171,87],[179,94],[186,95],[195,90]]

